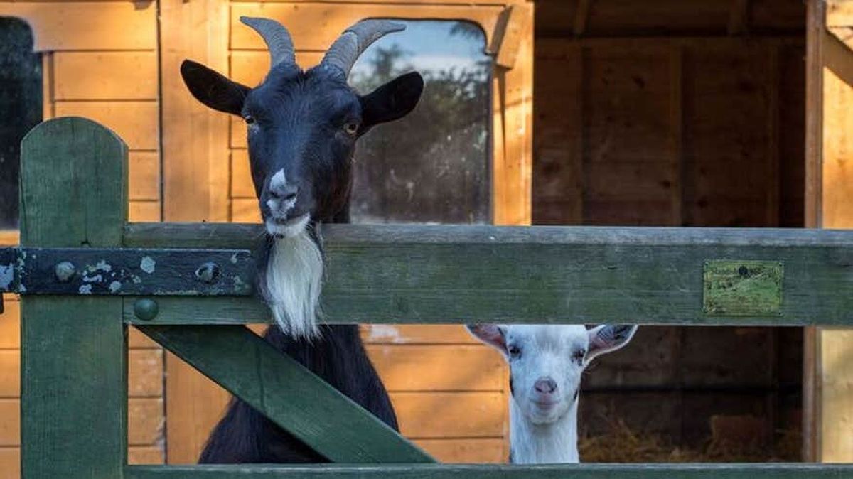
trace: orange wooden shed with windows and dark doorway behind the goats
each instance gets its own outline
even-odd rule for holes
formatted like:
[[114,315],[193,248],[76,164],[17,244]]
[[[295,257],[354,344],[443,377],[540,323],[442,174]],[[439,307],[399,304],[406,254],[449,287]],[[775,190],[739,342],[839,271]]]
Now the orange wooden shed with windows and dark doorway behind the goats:
[[[365,138],[357,221],[853,226],[843,0],[0,1],[0,38],[27,50],[0,59],[0,78],[41,113],[4,119],[0,138],[93,118],[131,149],[131,221],[257,221],[243,127],[197,104],[177,74],[192,58],[258,82],[268,59],[244,14],[288,26],[303,66],[356,20],[409,24],[353,82],[425,69],[432,102]],[[457,101],[435,107],[447,88]],[[415,153],[401,163],[395,148]],[[0,190],[14,186],[15,169],[0,171]],[[6,198],[0,245],[17,241]],[[17,477],[20,324],[4,300],[0,477]],[[499,355],[459,326],[363,331],[403,434],[446,462],[507,458]],[[227,395],[141,334],[130,343],[131,463],[194,462]],[[770,459],[786,431],[803,453],[784,459],[850,461],[851,350],[853,333],[838,330],[643,328],[585,378],[582,435],[624,421],[702,447],[734,428]]]

